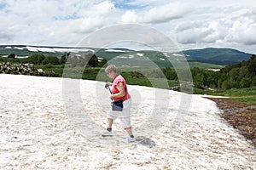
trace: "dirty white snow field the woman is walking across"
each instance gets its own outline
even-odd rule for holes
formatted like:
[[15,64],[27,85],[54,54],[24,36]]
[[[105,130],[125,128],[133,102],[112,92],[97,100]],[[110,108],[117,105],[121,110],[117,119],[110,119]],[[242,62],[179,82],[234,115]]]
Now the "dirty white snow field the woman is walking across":
[[[0,169],[255,169],[255,148],[219,116],[211,100],[128,86],[134,134],[152,144],[125,144],[116,122],[112,138],[101,136],[110,102],[104,82],[73,80],[79,81],[86,111],[71,115],[67,109],[76,105],[66,109],[65,80],[0,75]],[[167,116],[154,129],[145,120],[154,119],[156,92],[165,93],[158,99],[169,103],[160,105],[167,106]],[[188,111],[181,107],[183,95],[192,99]],[[85,115],[91,120],[84,121]]]

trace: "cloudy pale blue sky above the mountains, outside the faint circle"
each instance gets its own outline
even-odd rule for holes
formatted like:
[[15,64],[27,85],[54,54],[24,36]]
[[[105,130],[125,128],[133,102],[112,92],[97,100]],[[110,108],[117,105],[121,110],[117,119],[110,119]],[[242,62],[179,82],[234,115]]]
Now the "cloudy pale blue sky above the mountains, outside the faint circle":
[[75,47],[92,32],[132,23],[164,33],[181,49],[256,54],[255,0],[0,0],[0,20],[1,45]]

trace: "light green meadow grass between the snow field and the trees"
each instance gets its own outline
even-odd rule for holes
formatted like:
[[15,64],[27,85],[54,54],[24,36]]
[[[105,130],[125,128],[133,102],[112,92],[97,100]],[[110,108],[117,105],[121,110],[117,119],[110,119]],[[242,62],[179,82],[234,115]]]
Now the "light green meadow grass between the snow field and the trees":
[[[45,72],[54,71],[57,77],[62,77],[64,65],[36,65],[36,68],[43,69]],[[67,68],[66,68],[67,69]],[[125,77],[125,80],[128,84],[131,85],[140,85],[154,88],[168,88],[178,86],[178,81],[166,81],[165,77],[160,77],[158,68],[152,67],[127,67],[122,68],[122,76]],[[96,80],[105,82],[111,82],[104,71],[104,69],[100,67],[96,68],[70,68],[67,69],[68,77],[73,78],[82,78],[88,80]],[[83,74],[79,71],[83,71]],[[143,74],[136,74],[132,71],[137,71]],[[217,96],[228,96],[231,99],[247,102],[248,104],[256,104],[256,87],[253,88],[233,88],[228,90],[208,90],[208,89],[200,89],[194,88],[194,94],[209,94],[209,95],[217,95]]]

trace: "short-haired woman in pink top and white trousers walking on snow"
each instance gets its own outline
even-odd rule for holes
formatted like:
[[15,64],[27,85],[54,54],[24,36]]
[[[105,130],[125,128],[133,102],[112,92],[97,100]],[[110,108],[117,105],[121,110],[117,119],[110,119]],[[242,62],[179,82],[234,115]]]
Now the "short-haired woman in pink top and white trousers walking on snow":
[[128,133],[127,142],[135,142],[136,139],[131,131],[131,95],[128,93],[125,78],[117,73],[115,65],[108,65],[105,71],[108,77],[113,79],[113,83],[107,82],[106,84],[111,90],[110,99],[113,99],[113,101],[123,100],[123,111],[110,109],[107,112],[108,128],[102,133],[102,136],[113,136],[112,124],[113,120],[117,119],[119,125],[124,127]]

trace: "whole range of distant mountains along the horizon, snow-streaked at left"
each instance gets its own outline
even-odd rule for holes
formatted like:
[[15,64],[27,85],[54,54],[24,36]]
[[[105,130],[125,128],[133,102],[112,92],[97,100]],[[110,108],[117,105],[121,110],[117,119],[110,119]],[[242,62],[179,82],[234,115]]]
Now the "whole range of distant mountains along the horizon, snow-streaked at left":
[[[17,57],[28,57],[32,54],[44,54],[45,56],[61,57],[63,54],[84,54],[96,53],[99,58],[105,58],[116,62],[119,65],[159,65],[172,66],[170,59],[175,61],[181,57],[189,61],[189,64],[197,63],[215,65],[234,65],[242,60],[250,59],[252,54],[246,54],[231,48],[203,48],[190,49],[178,53],[160,53],[158,51],[134,51],[128,48],[72,48],[72,47],[42,47],[28,45],[0,45],[0,56],[15,54]],[[172,62],[172,61],[171,61]]]

